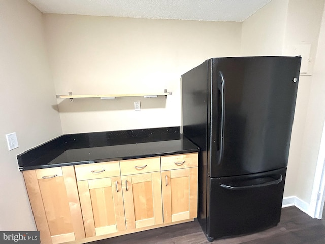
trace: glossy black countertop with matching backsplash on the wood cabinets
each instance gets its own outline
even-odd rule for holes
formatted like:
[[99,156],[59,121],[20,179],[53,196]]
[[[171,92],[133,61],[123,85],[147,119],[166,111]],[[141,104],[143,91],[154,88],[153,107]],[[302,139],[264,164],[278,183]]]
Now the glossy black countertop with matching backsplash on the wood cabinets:
[[17,155],[20,170],[200,151],[180,127],[66,134]]

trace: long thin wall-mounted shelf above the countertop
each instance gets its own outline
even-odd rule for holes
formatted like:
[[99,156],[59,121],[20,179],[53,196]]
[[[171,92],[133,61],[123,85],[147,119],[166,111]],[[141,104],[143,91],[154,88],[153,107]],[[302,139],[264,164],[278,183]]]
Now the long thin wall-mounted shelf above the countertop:
[[69,92],[69,95],[56,95],[56,98],[69,98],[70,102],[73,102],[74,98],[100,98],[100,99],[115,99],[118,97],[144,97],[144,98],[156,98],[158,96],[172,95],[171,92],[167,92],[165,89],[163,93],[135,93],[135,94],[83,94],[73,95]]

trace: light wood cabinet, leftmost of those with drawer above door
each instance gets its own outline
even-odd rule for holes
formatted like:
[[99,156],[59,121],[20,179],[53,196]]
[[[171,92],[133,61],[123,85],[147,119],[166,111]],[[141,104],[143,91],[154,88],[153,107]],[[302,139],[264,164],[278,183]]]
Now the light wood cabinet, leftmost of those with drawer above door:
[[119,161],[75,165],[86,237],[124,231]]

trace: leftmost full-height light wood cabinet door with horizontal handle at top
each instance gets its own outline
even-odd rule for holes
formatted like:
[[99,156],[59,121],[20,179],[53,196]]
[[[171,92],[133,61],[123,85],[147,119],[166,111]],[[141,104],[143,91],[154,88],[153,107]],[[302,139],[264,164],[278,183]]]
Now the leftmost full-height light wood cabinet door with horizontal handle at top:
[[42,244],[85,238],[73,166],[23,171]]

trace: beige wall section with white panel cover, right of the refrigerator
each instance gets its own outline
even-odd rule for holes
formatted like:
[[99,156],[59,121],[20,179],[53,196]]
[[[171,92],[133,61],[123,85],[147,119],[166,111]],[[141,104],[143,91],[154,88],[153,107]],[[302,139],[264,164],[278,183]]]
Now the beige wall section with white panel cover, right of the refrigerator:
[[313,75],[313,70],[316,53],[320,52],[318,38],[324,2],[324,0],[289,1],[283,46],[283,55],[299,55],[295,48],[299,45],[310,45],[307,73],[302,73],[299,80],[288,178],[284,193],[285,196],[295,195],[307,204],[310,203],[325,115],[321,111],[315,113],[314,108],[321,107],[314,107],[315,104],[312,104],[314,99],[321,98],[321,89],[317,91],[318,88],[314,86],[315,82],[319,81]]

